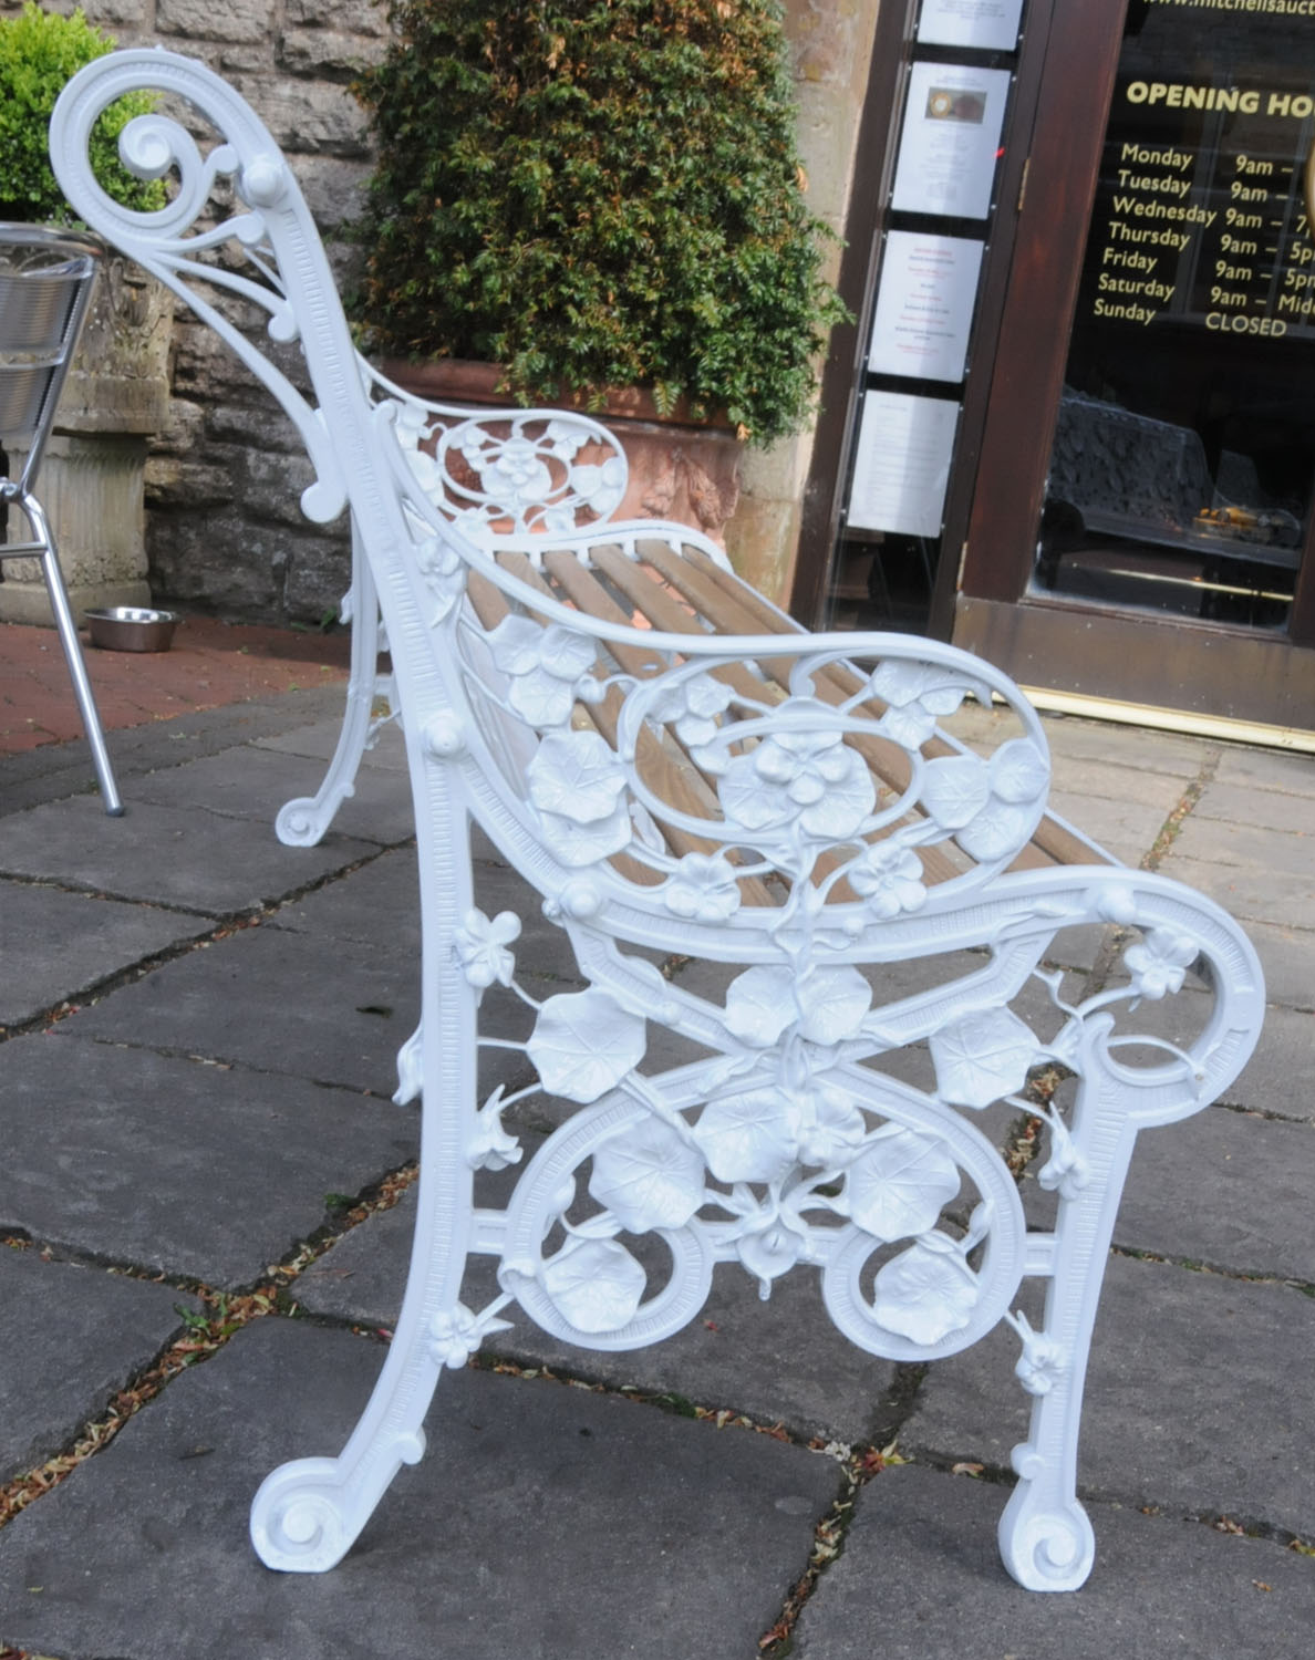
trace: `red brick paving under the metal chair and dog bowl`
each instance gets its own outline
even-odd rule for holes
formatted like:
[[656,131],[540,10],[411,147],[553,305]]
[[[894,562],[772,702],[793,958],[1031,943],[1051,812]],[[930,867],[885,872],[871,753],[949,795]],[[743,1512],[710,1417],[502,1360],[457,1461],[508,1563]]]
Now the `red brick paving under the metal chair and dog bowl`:
[[[347,632],[183,618],[169,651],[96,651],[86,672],[108,732],[347,677]],[[81,737],[55,629],[0,622],[0,755]]]

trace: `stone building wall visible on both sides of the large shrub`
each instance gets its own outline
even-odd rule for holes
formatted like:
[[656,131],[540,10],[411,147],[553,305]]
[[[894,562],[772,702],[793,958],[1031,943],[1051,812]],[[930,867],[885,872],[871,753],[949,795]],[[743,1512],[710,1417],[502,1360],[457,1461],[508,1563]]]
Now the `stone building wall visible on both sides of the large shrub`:
[[[800,88],[800,148],[812,201],[842,224],[878,0],[787,0]],[[0,0],[0,17],[20,10]],[[71,12],[73,0],[46,0]],[[292,166],[339,269],[335,231],[354,216],[369,171],[365,121],[349,83],[385,45],[374,0],[83,0],[121,46],[163,45],[201,58],[251,101]],[[229,350],[179,305],[171,402],[151,440],[146,544],[159,603],[227,618],[319,622],[345,586],[345,523],[302,520],[309,465],[296,433]],[[769,593],[785,591],[799,533],[810,437],[750,455],[727,541]]]

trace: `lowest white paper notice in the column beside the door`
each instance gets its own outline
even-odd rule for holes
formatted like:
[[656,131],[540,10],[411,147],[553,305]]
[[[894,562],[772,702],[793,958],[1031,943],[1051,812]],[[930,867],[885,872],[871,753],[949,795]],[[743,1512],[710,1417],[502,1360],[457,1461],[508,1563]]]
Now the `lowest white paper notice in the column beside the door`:
[[850,490],[852,526],[940,536],[958,410],[941,398],[868,392]]

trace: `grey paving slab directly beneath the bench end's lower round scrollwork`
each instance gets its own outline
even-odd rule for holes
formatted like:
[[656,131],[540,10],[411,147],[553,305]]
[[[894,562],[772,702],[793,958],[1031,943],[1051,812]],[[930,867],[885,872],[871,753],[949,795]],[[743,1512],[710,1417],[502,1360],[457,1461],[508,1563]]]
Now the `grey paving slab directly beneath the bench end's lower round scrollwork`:
[[[301,1275],[297,1301],[310,1313],[390,1330],[407,1282],[413,1222],[415,1189],[408,1189],[400,1204],[352,1228]],[[480,1258],[468,1272],[462,1300],[482,1308],[496,1295],[493,1260]],[[664,1343],[623,1355],[563,1343],[515,1306],[503,1318],[513,1328],[486,1340],[490,1355],[618,1388],[679,1394],[769,1424],[784,1421],[805,1438],[872,1439],[895,1376],[890,1361],[840,1336],[822,1306],[817,1273],[805,1270],[777,1280],[764,1303],[755,1282],[724,1263],[689,1326]]]

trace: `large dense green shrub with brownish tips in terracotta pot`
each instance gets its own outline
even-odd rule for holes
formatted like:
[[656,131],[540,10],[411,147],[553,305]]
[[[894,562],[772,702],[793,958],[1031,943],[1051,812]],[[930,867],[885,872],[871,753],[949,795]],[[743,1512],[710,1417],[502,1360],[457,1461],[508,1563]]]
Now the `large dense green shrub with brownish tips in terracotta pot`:
[[648,385],[797,430],[845,317],[802,198],[777,0],[390,0],[352,314],[525,400]]

